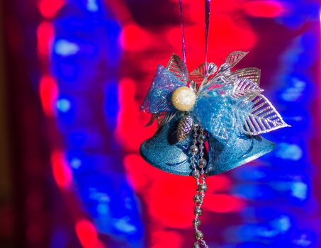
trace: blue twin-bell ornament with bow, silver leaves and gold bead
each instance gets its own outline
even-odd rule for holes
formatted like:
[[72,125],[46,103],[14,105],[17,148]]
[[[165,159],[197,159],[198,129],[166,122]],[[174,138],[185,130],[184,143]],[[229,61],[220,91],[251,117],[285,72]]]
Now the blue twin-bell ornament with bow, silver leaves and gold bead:
[[[159,65],[142,111],[159,129],[142,143],[142,157],[154,167],[180,175],[219,174],[271,152],[274,143],[260,135],[288,126],[259,87],[261,72],[232,72],[247,52],[232,52],[218,67],[201,64],[188,74],[172,55]],[[208,143],[208,151],[205,144]]]

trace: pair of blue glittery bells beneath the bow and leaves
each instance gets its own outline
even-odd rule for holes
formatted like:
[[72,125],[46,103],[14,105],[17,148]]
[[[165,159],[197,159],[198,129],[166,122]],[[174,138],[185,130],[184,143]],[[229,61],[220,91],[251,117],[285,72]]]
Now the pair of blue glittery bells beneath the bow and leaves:
[[[180,116],[174,117],[163,125],[150,139],[140,146],[142,157],[154,167],[173,174],[188,176],[192,173],[189,148],[193,144],[190,134],[181,142],[177,141],[176,128]],[[208,165],[205,172],[208,176],[229,171],[246,164],[274,150],[274,143],[261,136],[240,135],[232,145],[225,145],[210,134],[208,136],[208,154],[205,159]]]

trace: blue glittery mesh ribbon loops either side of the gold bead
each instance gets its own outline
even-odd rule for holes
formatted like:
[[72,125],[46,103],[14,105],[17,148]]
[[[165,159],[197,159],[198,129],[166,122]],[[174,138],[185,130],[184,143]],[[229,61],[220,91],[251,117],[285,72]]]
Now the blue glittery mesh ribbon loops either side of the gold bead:
[[[150,90],[142,103],[142,111],[162,113],[177,111],[171,103],[173,91],[187,82],[179,80],[173,73],[159,64],[150,86]],[[232,142],[241,133],[242,123],[237,123],[235,104],[230,96],[232,84],[204,86],[197,94],[196,104],[190,111],[196,123],[199,123],[218,140]],[[240,100],[239,100],[240,101]],[[248,106],[248,113],[252,106]]]

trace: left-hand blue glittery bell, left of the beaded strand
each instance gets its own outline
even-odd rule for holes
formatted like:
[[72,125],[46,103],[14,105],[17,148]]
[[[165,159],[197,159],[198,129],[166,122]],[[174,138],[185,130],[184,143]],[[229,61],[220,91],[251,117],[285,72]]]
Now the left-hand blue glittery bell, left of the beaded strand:
[[140,154],[152,166],[173,174],[191,175],[191,153],[189,148],[193,143],[190,134],[185,140],[178,142],[176,128],[179,116],[175,116],[163,125],[150,139],[140,146]]

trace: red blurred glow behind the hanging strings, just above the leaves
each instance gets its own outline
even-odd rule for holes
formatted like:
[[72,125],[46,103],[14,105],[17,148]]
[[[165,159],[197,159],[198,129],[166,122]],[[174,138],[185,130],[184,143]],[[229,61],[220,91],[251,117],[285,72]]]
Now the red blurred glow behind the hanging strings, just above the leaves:
[[[212,19],[211,19],[212,20]],[[186,26],[186,64],[191,71],[205,61],[205,33],[204,24]],[[167,42],[175,51],[181,52],[181,28],[168,28]],[[236,41],[237,40],[237,41]],[[215,21],[211,21],[208,47],[208,61],[218,65],[224,62],[225,57],[232,51],[249,51],[257,43],[257,37],[249,23],[234,21],[230,16],[217,14]]]

